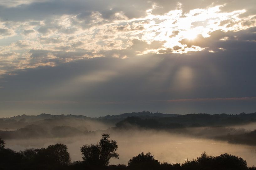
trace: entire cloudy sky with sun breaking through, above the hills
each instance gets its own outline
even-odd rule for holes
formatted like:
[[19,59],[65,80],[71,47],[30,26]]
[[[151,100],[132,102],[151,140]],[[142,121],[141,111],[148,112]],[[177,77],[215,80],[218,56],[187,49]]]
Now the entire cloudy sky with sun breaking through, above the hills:
[[0,117],[256,112],[255,0],[0,0]]

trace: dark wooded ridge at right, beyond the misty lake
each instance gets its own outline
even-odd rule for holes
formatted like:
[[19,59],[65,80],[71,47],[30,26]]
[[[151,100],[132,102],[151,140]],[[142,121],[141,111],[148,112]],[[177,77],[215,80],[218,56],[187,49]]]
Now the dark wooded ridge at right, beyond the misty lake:
[[116,124],[118,128],[135,125],[150,129],[175,129],[187,127],[227,126],[256,122],[256,113],[250,114],[185,114],[170,117],[127,117]]

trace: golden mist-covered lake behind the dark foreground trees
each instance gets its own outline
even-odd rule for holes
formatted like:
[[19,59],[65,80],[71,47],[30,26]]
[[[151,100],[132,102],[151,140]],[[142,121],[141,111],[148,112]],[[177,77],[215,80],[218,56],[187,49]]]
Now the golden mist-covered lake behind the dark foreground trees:
[[[111,160],[114,164],[127,164],[129,158],[140,152],[151,152],[161,162],[184,163],[187,159],[197,158],[205,151],[209,155],[229,153],[245,159],[248,166],[256,165],[256,146],[230,144],[225,141],[154,130],[111,131],[109,133],[111,138],[118,142],[120,156],[119,159]],[[101,134],[102,132],[67,138],[9,139],[6,140],[6,147],[19,151],[25,148],[41,148],[50,144],[63,143],[67,145],[72,161],[75,161],[81,160],[80,147],[84,144],[97,143]]]

